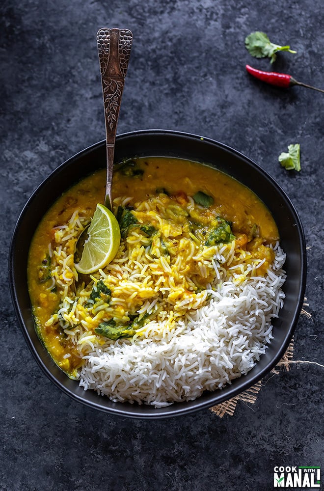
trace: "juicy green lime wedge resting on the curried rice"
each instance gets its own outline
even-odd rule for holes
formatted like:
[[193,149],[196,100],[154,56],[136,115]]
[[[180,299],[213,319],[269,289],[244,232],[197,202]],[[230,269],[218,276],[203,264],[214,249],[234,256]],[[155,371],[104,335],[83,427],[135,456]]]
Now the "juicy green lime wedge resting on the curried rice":
[[104,268],[117,254],[120,230],[116,217],[98,203],[88,229],[81,260],[75,264],[79,273],[90,274]]

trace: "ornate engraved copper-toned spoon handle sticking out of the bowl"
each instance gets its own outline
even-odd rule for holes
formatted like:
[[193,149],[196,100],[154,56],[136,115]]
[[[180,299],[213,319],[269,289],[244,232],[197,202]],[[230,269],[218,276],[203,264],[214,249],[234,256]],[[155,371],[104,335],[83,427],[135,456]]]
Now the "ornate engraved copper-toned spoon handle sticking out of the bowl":
[[97,33],[107,144],[105,205],[109,210],[112,209],[111,185],[117,121],[132,42],[133,34],[128,29],[103,27]]

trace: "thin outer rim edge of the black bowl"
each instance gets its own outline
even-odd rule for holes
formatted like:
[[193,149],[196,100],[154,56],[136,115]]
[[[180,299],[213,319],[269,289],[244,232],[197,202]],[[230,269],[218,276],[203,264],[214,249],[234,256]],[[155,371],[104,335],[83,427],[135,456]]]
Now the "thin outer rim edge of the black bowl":
[[[241,380],[242,383],[236,387],[232,386],[231,384],[226,384],[226,392],[223,392],[223,389],[216,389],[215,391],[208,392],[208,396],[205,399],[201,399],[201,397],[198,397],[194,401],[189,401],[189,402],[181,402],[181,403],[174,403],[170,406],[163,407],[163,408],[154,408],[154,412],[147,412],[147,413],[138,413],[138,411],[132,411],[130,410],[123,410],[122,407],[125,403],[116,403],[117,405],[121,405],[121,409],[118,407],[105,407],[100,403],[94,403],[93,401],[88,401],[87,399],[82,398],[80,395],[77,393],[69,390],[64,384],[62,384],[57,378],[55,377],[54,373],[45,365],[43,360],[41,359],[40,355],[38,354],[36,347],[29,335],[29,332],[27,330],[27,326],[25,325],[24,318],[21,312],[21,308],[19,306],[19,300],[18,300],[18,295],[17,295],[17,289],[15,285],[15,242],[16,242],[16,237],[18,235],[19,229],[22,225],[22,222],[32,205],[33,201],[37,199],[38,192],[46,186],[46,184],[52,179],[53,175],[57,173],[60,169],[65,168],[68,164],[70,164],[72,161],[79,159],[81,156],[85,156],[88,153],[93,152],[95,149],[103,146],[106,144],[106,140],[100,140],[97,143],[91,144],[88,147],[84,148],[83,150],[77,152],[74,154],[72,157],[68,158],[65,160],[63,163],[59,164],[57,167],[55,167],[54,170],[52,170],[46,177],[43,179],[43,181],[32,191],[31,195],[27,199],[22,211],[19,214],[19,217],[16,221],[11,241],[10,241],[10,246],[9,246],[9,261],[8,261],[8,279],[9,279],[9,288],[10,288],[10,294],[11,294],[11,299],[12,303],[14,306],[14,311],[16,314],[16,318],[19,321],[20,328],[23,332],[23,335],[25,337],[25,340],[27,342],[27,346],[29,350],[31,351],[32,355],[36,359],[36,362],[42,369],[42,371],[46,374],[46,376],[54,382],[54,384],[59,387],[65,394],[70,396],[72,399],[81,402],[81,404],[88,406],[92,409],[97,409],[101,410],[103,412],[108,412],[113,415],[119,415],[123,417],[129,417],[129,418],[135,418],[135,419],[164,419],[164,418],[170,418],[170,417],[175,417],[175,416],[180,416],[180,415],[185,415],[185,414],[190,414],[193,412],[197,412],[202,409],[208,409],[211,408],[215,405],[218,405],[226,400],[229,400],[239,393],[244,392],[246,389],[249,387],[253,386],[256,382],[262,380],[264,376],[270,372],[272,368],[278,363],[278,361],[282,358],[284,353],[286,352],[288,345],[291,341],[291,338],[293,336],[295,327],[297,325],[297,321],[300,315],[300,311],[302,308],[302,303],[304,300],[304,294],[305,294],[305,288],[306,288],[306,243],[305,243],[305,236],[304,236],[304,231],[303,231],[303,226],[301,223],[301,220],[297,214],[296,208],[294,204],[292,203],[291,199],[288,197],[286,192],[281,188],[281,186],[268,174],[266,170],[264,170],[260,165],[256,164],[253,160],[251,160],[249,157],[245,156],[243,153],[239,152],[238,150],[222,143],[219,142],[213,138],[205,137],[205,136],[200,136],[200,135],[195,135],[187,132],[181,132],[181,131],[174,131],[174,130],[163,130],[163,129],[146,129],[146,130],[136,130],[132,132],[126,132],[122,133],[116,136],[116,141],[121,140],[122,138],[127,138],[127,137],[136,137],[136,136],[142,136],[142,135],[166,135],[166,136],[180,136],[184,138],[190,138],[190,139],[200,139],[204,142],[211,143],[212,145],[216,145],[217,147],[222,148],[228,153],[233,154],[234,156],[237,156],[241,159],[243,159],[245,162],[247,162],[250,166],[254,167],[254,169],[257,172],[261,172],[261,174],[264,175],[264,177],[270,181],[272,186],[274,186],[277,191],[281,194],[281,197],[283,200],[286,202],[287,206],[290,208],[292,214],[294,215],[294,219],[296,221],[296,226],[297,226],[297,231],[298,231],[298,237],[299,237],[299,246],[300,246],[300,251],[301,251],[301,256],[300,256],[300,269],[301,269],[301,274],[300,274],[300,286],[299,286],[299,291],[298,291],[298,301],[296,303],[295,307],[295,312],[293,315],[292,322],[290,323],[290,327],[286,333],[286,336],[283,340],[283,343],[281,344],[280,349],[275,353],[273,358],[271,359],[270,362],[268,362],[264,368],[261,369],[261,371],[256,372],[256,374],[249,378],[249,380],[245,380],[241,376],[239,379],[236,380]],[[70,186],[72,186],[70,184]],[[68,189],[68,188],[67,188]],[[47,210],[46,210],[47,211]],[[44,212],[45,213],[45,212]],[[40,340],[41,342],[41,340]],[[269,346],[269,345],[268,345]],[[46,348],[44,347],[46,350]],[[64,372],[63,372],[64,373]],[[77,383],[77,381],[76,381]],[[224,388],[225,388],[224,387]],[[90,389],[89,389],[90,390]],[[213,402],[213,394],[217,395],[217,401]],[[102,396],[98,396],[102,397]],[[216,396],[214,396],[215,398]],[[187,406],[187,404],[194,403],[190,407]],[[132,406],[132,405],[131,405]],[[152,408],[152,406],[147,406],[147,405],[135,405],[136,408]]]

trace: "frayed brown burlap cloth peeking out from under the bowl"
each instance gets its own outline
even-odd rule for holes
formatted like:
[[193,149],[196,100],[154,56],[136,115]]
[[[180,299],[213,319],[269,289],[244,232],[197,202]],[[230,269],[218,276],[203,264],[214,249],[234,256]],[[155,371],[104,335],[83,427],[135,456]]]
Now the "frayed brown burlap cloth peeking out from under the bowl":
[[[303,307],[308,307],[307,299],[304,299]],[[304,308],[301,309],[301,315],[305,315],[308,319],[311,319],[312,316],[309,314]],[[271,370],[272,375],[278,375],[280,373],[280,369],[286,370],[287,372],[290,370],[291,364],[299,364],[299,363],[310,363],[314,365],[319,365],[320,367],[324,367],[320,363],[314,361],[305,361],[305,360],[293,360],[294,357],[294,338],[291,340],[286,353],[283,355],[279,363]],[[245,390],[241,394],[229,399],[228,401],[222,402],[210,408],[218,417],[222,418],[225,414],[229,414],[229,416],[233,416],[236,405],[238,401],[243,401],[250,404],[255,404],[258,394],[264,386],[263,380],[260,380],[255,385],[252,385],[249,389]]]

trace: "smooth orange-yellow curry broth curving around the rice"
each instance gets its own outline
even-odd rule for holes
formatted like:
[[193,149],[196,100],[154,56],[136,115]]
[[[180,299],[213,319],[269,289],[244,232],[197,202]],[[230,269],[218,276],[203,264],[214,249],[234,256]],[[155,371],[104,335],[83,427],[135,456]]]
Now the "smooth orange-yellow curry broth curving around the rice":
[[[156,195],[159,188],[170,195],[185,193],[193,196],[203,191],[214,198],[210,210],[232,222],[238,240],[240,235],[248,234],[254,224],[258,226],[263,243],[274,244],[279,239],[278,229],[266,206],[252,191],[228,175],[207,165],[164,157],[136,159],[136,167],[141,171],[137,175],[125,175],[122,169],[115,171],[113,198],[132,196],[132,202],[141,201]],[[54,227],[66,223],[78,209],[84,210],[90,219],[96,204],[104,201],[105,185],[106,170],[103,169],[66,191],[40,222],[29,250],[28,288],[37,332],[54,361],[70,376],[81,366],[81,358],[58,326],[45,326],[57,310],[59,298],[55,288],[49,289],[47,281],[40,281],[40,265],[46,270]],[[69,358],[64,358],[66,353]]]

